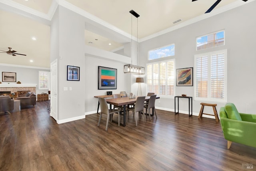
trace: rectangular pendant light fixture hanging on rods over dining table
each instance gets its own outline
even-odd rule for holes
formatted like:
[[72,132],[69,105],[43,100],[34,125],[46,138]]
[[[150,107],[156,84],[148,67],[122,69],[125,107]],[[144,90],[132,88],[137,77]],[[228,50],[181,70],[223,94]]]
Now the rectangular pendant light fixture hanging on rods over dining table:
[[[137,18],[137,65],[138,65],[138,17],[140,15],[137,14],[134,10],[130,10],[130,13]],[[132,60],[132,38],[131,38],[131,60]],[[142,66],[127,64],[124,66],[124,73],[141,75],[141,74],[145,74],[145,68]]]

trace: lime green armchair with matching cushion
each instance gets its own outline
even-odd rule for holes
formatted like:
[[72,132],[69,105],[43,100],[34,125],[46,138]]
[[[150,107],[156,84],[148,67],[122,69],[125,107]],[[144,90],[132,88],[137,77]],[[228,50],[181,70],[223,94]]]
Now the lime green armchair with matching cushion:
[[256,147],[256,115],[239,113],[233,103],[220,107],[220,124],[228,149],[232,142]]

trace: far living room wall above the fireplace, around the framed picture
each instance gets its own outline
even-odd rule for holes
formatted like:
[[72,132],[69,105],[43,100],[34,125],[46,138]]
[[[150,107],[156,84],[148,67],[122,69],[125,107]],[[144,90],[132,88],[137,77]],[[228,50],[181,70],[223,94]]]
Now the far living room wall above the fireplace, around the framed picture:
[[[38,89],[38,71],[48,71],[50,72],[50,69],[38,69],[38,68],[28,68],[25,66],[4,66],[0,65],[0,80],[2,82],[2,72],[16,72],[16,82],[20,81],[21,84],[36,84],[36,94],[41,94],[41,93],[48,93],[47,90],[39,90]],[[16,82],[2,82],[2,84],[17,84]]]

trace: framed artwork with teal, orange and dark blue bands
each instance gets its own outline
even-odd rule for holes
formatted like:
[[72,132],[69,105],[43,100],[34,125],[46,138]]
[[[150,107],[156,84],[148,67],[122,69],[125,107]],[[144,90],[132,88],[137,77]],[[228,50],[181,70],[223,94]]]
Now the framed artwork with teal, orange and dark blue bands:
[[117,69],[98,66],[98,89],[116,89]]

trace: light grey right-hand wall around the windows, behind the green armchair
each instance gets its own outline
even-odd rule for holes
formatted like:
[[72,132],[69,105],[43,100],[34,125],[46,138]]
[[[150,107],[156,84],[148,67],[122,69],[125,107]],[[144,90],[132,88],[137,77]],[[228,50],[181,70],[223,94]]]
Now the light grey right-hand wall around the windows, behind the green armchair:
[[[176,68],[194,67],[194,55],[217,50],[228,50],[228,102],[236,105],[238,111],[256,113],[256,94],[254,73],[256,72],[256,48],[255,48],[255,28],[256,22],[253,18],[256,2],[245,4],[230,11],[174,30],[162,36],[152,38],[140,43],[140,65],[146,67],[148,51],[175,44]],[[196,51],[196,37],[225,30],[225,46]],[[170,59],[169,58],[169,59]],[[162,59],[160,59],[162,60]],[[153,61],[152,61],[153,62]],[[176,87],[176,95],[194,95],[193,87]],[[146,89],[144,89],[146,91]],[[180,99],[180,110],[188,111],[188,100]],[[160,102],[160,103],[159,103]],[[193,100],[193,112],[198,114],[201,101]],[[211,102],[212,103],[212,102]],[[217,111],[224,103],[217,103]],[[174,110],[174,99],[159,99],[156,103],[158,108]],[[212,109],[206,112],[212,113]]]

